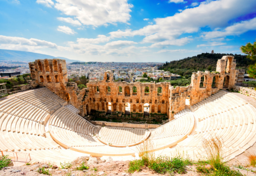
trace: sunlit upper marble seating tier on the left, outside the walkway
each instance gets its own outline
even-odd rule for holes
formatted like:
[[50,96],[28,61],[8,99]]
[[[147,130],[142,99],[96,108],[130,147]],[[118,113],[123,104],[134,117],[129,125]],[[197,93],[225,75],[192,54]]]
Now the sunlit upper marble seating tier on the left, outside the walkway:
[[[18,96],[31,95],[31,92],[35,93],[35,90]],[[45,92],[45,88],[38,89],[36,92]],[[59,100],[59,102],[62,101]],[[44,124],[49,116],[46,109],[40,109],[15,96],[1,101],[0,150],[25,152],[36,161],[56,161],[56,164],[79,157],[81,154],[78,152],[61,149],[50,134],[45,132]],[[24,154],[17,154],[24,158]]]

